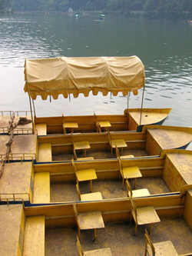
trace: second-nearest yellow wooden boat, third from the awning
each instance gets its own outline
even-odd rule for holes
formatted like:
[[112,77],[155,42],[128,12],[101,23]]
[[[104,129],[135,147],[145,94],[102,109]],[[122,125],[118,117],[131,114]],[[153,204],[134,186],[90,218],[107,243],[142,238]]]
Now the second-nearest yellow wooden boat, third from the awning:
[[[187,150],[165,150],[156,157],[121,159],[124,170],[137,167],[141,172],[141,175],[129,178],[131,188],[134,190],[137,180],[136,189],[147,188],[151,195],[174,194],[184,185],[192,184],[191,164],[192,151]],[[81,172],[94,169],[96,177],[92,181],[92,191],[100,192],[103,199],[127,198],[126,186],[122,189],[124,178],[117,158],[74,161],[74,165]],[[30,204],[78,201],[80,194],[90,193],[90,180],[79,182],[77,189],[78,180],[71,161],[40,165],[15,157],[5,163],[0,178],[0,198],[22,198]]]

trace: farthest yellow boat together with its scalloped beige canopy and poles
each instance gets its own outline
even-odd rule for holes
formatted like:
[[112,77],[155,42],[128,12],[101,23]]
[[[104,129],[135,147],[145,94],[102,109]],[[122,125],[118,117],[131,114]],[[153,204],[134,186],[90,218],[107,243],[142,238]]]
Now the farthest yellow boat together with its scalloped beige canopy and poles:
[[[47,72],[49,70],[49,72]],[[56,72],[55,72],[56,70]],[[98,95],[122,92],[129,96],[131,91],[144,88],[144,65],[137,56],[131,57],[95,57],[95,58],[48,58],[27,59],[25,61],[25,92],[28,92],[31,116],[35,114],[34,100],[39,95],[43,100],[54,99],[58,95],[74,98],[79,94],[87,97],[92,91]],[[31,103],[31,99],[33,104]],[[144,99],[144,91],[143,91]],[[93,131],[141,131],[143,125],[160,125],[170,113],[170,108],[127,109],[124,115],[61,116],[38,118],[35,116],[33,128],[38,135],[49,135],[66,132]],[[32,118],[33,119],[33,118]]]

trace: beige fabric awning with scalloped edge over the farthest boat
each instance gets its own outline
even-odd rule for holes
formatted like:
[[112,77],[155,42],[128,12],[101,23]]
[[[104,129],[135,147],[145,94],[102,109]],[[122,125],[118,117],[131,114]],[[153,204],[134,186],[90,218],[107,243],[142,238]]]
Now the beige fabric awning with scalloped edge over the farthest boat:
[[38,95],[46,100],[58,95],[68,98],[80,93],[85,97],[92,91],[98,95],[112,92],[127,95],[144,87],[144,65],[137,56],[131,57],[82,57],[43,58],[25,60],[25,92],[32,99]]

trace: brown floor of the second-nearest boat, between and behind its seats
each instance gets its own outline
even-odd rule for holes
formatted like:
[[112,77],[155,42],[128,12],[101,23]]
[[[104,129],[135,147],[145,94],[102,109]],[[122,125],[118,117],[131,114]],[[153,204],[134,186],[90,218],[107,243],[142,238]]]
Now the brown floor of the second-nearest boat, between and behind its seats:
[[[130,180],[132,188],[134,181]],[[51,202],[78,201],[78,193],[76,190],[76,182],[62,182],[51,184]],[[161,177],[153,178],[137,178],[136,189],[147,188],[151,194],[162,194],[170,192]],[[81,194],[90,193],[90,185],[88,181],[80,182]],[[122,189],[122,181],[118,179],[94,180],[93,192],[100,191],[104,199],[127,198],[127,191],[124,186]]]

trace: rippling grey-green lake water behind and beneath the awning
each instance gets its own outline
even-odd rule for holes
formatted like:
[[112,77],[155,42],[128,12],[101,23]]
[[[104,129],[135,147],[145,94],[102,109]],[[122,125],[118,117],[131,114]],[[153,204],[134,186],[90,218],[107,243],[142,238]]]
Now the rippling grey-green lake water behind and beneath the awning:
[[[0,15],[0,110],[29,110],[25,58],[137,55],[145,66],[144,108],[172,108],[164,125],[192,126],[192,26],[98,15]],[[142,90],[130,108],[141,107]],[[37,116],[122,114],[127,97],[62,96],[35,101]]]

